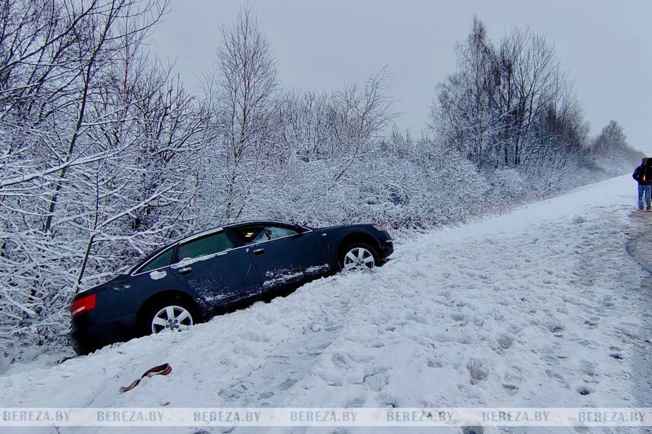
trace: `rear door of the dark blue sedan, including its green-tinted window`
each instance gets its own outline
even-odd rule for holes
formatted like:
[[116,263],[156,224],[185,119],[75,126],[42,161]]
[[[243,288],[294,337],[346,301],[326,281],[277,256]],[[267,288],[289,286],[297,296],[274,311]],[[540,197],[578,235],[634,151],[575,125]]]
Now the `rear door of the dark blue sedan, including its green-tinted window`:
[[197,293],[208,310],[261,292],[254,263],[246,250],[234,248],[223,230],[183,240],[170,267],[181,282]]

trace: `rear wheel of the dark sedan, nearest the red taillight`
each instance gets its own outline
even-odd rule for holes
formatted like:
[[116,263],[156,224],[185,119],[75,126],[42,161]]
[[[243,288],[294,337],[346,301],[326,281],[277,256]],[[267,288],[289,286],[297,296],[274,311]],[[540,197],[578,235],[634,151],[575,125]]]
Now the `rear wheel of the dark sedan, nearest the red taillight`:
[[[169,321],[170,319],[172,321]],[[145,336],[165,331],[181,332],[199,321],[200,314],[193,304],[180,298],[168,298],[147,309],[139,325],[140,334]]]

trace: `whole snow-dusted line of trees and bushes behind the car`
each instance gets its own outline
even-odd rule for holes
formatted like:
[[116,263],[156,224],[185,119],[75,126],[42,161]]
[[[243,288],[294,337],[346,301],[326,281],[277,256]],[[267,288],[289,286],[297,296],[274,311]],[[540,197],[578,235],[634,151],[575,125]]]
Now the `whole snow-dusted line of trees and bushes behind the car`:
[[250,8],[222,29],[200,97],[145,40],[156,0],[0,4],[0,353],[67,343],[78,291],[171,239],[250,218],[426,230],[620,173],[554,50],[494,46],[473,20],[430,128],[393,128],[385,72],[286,91]]

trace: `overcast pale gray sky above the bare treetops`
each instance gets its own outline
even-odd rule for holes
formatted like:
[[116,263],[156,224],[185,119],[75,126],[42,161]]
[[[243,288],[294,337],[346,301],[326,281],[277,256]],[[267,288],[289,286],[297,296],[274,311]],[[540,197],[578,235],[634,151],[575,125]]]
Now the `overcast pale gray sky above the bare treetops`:
[[[435,87],[454,71],[454,44],[473,15],[493,40],[529,24],[555,44],[584,102],[592,134],[610,119],[630,145],[652,154],[652,1],[250,0],[274,49],[286,87],[332,89],[387,65],[401,128],[419,132]],[[158,54],[176,61],[188,89],[213,59],[218,26],[244,1],[171,0],[153,34]]]

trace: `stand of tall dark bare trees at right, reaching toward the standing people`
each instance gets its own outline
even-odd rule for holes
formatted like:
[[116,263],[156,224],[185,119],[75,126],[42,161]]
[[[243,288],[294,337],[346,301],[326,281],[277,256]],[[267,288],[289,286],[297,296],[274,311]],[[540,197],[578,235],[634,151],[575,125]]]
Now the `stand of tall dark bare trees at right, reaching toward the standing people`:
[[589,137],[589,123],[552,44],[529,27],[494,43],[473,18],[456,52],[458,68],[439,85],[431,128],[443,145],[482,171],[515,169],[521,183],[552,193],[585,182],[576,179],[585,171],[622,174],[642,156],[627,145],[615,121],[599,137]]

